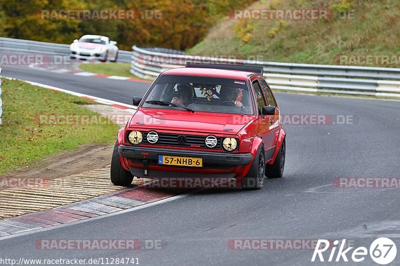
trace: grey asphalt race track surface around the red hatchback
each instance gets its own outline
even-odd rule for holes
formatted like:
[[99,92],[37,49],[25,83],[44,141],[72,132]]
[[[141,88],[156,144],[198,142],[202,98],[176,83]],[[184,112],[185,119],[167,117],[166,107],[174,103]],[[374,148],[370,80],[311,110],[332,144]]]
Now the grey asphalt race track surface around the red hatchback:
[[[128,104],[149,85],[27,67],[4,66],[2,75]],[[266,179],[262,190],[206,190],[97,220],[0,239],[0,257],[129,257],[138,258],[140,265],[319,265],[311,263],[313,250],[231,250],[228,241],[347,239],[369,249],[374,239],[387,237],[400,248],[398,189],[333,186],[338,177],[399,177],[400,102],[275,95],[283,114],[351,115],[353,123],[284,126],[284,177]],[[34,243],[40,239],[161,240],[162,245],[159,250],[54,251],[36,249]],[[391,265],[399,262],[397,254]],[[376,265],[369,255],[358,264]]]

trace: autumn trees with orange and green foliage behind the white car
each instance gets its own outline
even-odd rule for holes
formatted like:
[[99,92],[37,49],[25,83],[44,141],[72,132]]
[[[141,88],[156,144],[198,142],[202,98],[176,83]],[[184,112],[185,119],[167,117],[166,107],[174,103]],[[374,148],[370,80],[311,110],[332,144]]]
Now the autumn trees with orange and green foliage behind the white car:
[[[252,2],[0,0],[0,36],[71,43],[84,34],[98,34],[117,41],[121,50],[130,50],[133,44],[180,50],[199,42],[226,10],[243,8]],[[87,16],[82,15],[83,11]]]

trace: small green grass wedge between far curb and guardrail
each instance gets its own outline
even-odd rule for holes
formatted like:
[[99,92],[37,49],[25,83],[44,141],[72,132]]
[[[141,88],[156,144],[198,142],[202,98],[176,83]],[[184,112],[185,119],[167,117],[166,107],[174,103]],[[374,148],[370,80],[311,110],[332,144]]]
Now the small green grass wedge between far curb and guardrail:
[[79,68],[87,72],[108,76],[139,78],[129,72],[130,63],[80,64]]

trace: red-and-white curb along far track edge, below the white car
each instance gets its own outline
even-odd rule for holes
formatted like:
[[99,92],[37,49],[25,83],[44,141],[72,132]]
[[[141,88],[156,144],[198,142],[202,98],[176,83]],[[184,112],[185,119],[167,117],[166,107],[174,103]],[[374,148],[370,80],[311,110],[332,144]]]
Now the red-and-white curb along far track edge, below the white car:
[[[105,63],[105,62],[83,62],[83,63]],[[103,74],[96,74],[92,72],[86,72],[76,69],[66,69],[66,68],[58,68],[52,65],[47,64],[30,64],[30,68],[44,70],[46,72],[53,72],[58,74],[72,74],[76,76],[84,76],[84,77],[101,77],[101,78],[108,78],[108,79],[116,79],[116,80],[127,80],[127,81],[136,81],[136,82],[151,82],[146,79],[139,79],[139,78],[132,78],[132,77],[123,77],[123,76],[108,76]]]

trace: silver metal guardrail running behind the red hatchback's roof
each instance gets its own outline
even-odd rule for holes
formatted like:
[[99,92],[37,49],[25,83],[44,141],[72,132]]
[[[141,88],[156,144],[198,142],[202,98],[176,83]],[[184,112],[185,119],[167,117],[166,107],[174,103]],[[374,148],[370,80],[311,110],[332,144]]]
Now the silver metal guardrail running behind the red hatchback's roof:
[[221,59],[184,55],[176,50],[132,46],[130,73],[153,79],[164,70],[182,67],[186,61],[263,66],[272,89],[327,92],[378,97],[400,97],[400,68],[315,65]]

